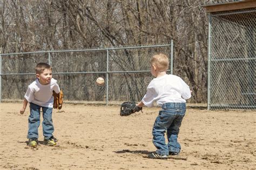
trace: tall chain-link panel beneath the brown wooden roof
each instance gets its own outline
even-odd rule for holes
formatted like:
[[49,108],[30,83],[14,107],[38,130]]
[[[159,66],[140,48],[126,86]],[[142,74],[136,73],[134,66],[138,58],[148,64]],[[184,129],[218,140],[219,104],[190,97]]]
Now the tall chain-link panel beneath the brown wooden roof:
[[255,27],[255,8],[210,14],[210,109],[256,108]]

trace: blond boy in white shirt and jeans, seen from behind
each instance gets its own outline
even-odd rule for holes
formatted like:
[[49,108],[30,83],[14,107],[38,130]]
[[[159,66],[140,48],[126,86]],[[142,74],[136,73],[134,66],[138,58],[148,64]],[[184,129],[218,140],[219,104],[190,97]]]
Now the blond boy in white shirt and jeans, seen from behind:
[[[166,55],[154,55],[150,64],[151,73],[156,78],[147,86],[145,96],[136,107],[152,107],[154,101],[161,106],[152,130],[153,144],[157,151],[149,154],[148,158],[167,159],[167,155],[178,155],[180,152],[181,147],[177,138],[186,112],[186,100],[191,97],[192,91],[180,77],[166,74],[169,66]],[[168,144],[165,144],[165,132]]]

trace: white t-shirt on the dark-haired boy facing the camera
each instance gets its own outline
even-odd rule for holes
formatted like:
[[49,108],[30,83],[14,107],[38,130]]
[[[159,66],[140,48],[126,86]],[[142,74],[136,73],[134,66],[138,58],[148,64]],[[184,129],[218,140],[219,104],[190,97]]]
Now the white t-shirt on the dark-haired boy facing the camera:
[[59,85],[57,84],[57,80],[51,79],[51,82],[48,85],[42,85],[39,83],[39,80],[36,79],[33,81],[28,90],[26,90],[25,99],[28,100],[29,103],[34,103],[43,107],[53,107],[53,96],[52,91],[56,93],[60,92]]

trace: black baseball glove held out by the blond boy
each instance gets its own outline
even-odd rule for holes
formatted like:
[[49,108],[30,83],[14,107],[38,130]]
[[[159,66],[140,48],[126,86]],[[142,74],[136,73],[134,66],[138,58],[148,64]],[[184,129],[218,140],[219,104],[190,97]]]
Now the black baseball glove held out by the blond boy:
[[126,116],[138,111],[142,111],[142,107],[136,106],[136,103],[134,102],[126,101],[121,105],[120,115]]

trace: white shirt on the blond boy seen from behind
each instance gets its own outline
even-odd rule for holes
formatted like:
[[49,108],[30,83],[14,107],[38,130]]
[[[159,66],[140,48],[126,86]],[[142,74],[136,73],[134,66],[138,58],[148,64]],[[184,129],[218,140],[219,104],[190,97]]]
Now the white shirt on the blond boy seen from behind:
[[142,102],[147,107],[152,107],[154,101],[162,106],[164,103],[186,103],[190,97],[190,87],[180,77],[166,74],[150,82]]

